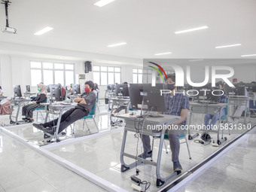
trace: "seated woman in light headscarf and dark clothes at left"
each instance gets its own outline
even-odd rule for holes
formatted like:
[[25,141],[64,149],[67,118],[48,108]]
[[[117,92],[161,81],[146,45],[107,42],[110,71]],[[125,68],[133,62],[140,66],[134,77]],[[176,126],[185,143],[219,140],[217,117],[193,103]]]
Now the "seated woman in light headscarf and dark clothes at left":
[[35,98],[35,101],[32,104],[25,105],[22,108],[23,120],[27,120],[29,123],[33,122],[33,111],[35,108],[42,108],[43,105],[40,105],[41,102],[45,102],[47,99],[47,90],[44,84],[38,84],[38,95]]

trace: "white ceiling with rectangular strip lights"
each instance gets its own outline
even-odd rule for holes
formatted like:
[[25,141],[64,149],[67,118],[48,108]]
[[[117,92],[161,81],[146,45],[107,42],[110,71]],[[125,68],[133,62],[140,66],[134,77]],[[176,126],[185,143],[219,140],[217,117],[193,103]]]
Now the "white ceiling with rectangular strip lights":
[[[11,0],[10,27],[2,42],[143,58],[241,58],[256,54],[255,0]],[[5,26],[4,5],[0,27]],[[33,35],[45,26],[54,29]],[[175,35],[199,26],[209,29]],[[108,47],[125,41],[120,47]],[[226,44],[239,47],[215,49]],[[172,52],[155,56],[155,53]],[[255,56],[254,56],[255,58]]]

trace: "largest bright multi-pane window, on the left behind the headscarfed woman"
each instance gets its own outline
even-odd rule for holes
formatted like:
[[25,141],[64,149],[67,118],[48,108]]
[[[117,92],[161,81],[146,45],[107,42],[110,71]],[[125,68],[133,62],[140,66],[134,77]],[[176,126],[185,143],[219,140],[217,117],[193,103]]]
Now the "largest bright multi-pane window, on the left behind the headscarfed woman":
[[31,84],[69,85],[75,83],[75,65],[60,62],[30,62]]

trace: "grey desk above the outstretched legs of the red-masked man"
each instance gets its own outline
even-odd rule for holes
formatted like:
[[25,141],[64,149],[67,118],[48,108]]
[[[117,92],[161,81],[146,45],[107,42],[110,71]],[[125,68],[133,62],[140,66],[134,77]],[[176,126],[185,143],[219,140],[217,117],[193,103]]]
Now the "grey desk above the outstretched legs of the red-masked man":
[[[61,120],[61,116],[62,116],[62,113],[63,111],[67,111],[69,110],[70,108],[75,108],[75,106],[77,104],[68,104],[68,105],[62,105],[62,104],[43,104],[42,105],[45,105],[45,118],[44,118],[44,123],[47,122],[47,117],[50,114],[59,114],[59,119],[58,119],[58,122],[56,124],[56,132],[54,133],[53,136],[55,136],[56,138],[56,142],[60,142],[59,140],[59,136],[58,136],[58,133],[59,133],[59,124],[60,124],[60,120]],[[47,136],[51,136],[49,133],[44,133],[45,135]]]

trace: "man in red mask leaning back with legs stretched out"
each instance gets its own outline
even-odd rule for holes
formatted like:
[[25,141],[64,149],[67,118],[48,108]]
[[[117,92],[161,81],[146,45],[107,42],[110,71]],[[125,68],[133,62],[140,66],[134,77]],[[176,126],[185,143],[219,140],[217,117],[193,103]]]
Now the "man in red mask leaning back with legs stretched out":
[[[65,130],[76,120],[80,120],[82,117],[85,117],[90,113],[90,110],[93,108],[93,105],[95,105],[96,102],[96,95],[93,93],[93,89],[93,81],[85,82],[85,92],[81,94],[81,96],[75,98],[75,102],[78,102],[78,105],[76,105],[75,108],[71,108],[69,111],[66,111],[64,114],[62,114],[59,124],[59,133]],[[58,118],[47,123],[33,123],[33,126],[39,130],[43,130],[45,133],[53,135],[56,131],[57,122]]]

